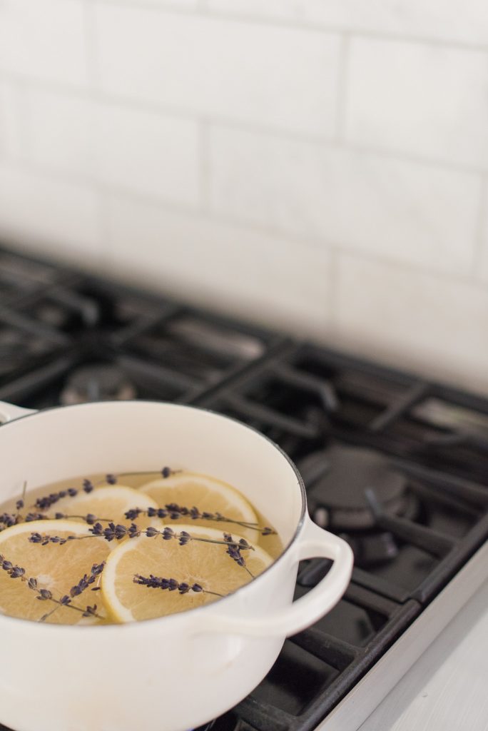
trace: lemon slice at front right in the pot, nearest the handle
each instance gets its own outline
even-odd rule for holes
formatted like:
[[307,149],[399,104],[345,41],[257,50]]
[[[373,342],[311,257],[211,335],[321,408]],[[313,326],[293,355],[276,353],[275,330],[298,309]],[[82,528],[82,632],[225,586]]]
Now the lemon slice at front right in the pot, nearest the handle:
[[[173,529],[176,530],[175,526]],[[221,541],[222,531],[202,526],[180,525],[178,532],[191,536]],[[233,533],[238,541],[240,536]],[[177,539],[132,538],[119,546],[107,558],[102,574],[102,594],[110,616],[118,622],[152,619],[214,602],[219,596],[232,593],[262,573],[272,562],[271,556],[259,546],[243,550],[248,571],[239,566],[227,553],[226,546],[191,540],[179,545]],[[204,591],[149,588],[134,583],[134,576],[150,575],[174,579],[202,587]],[[209,592],[213,592],[209,593]]]

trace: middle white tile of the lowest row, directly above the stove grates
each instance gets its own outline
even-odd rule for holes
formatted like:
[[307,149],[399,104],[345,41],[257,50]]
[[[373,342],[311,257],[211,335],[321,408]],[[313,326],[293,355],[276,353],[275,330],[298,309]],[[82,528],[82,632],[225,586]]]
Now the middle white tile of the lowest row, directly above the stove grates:
[[109,210],[118,276],[302,333],[326,331],[327,251],[125,198]]

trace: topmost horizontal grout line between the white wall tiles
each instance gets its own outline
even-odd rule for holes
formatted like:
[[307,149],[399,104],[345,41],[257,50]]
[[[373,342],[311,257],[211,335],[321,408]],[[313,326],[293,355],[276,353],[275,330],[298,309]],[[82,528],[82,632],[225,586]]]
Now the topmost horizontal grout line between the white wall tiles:
[[[375,31],[361,28],[358,26],[338,26],[334,23],[325,23],[320,20],[307,20],[300,13],[299,8],[291,11],[289,18],[271,15],[253,15],[252,12],[226,12],[225,10],[212,10],[207,7],[206,0],[197,0],[194,8],[182,8],[178,4],[168,2],[167,4],[156,4],[151,0],[89,0],[97,1],[112,7],[133,7],[137,9],[154,10],[156,12],[174,13],[175,15],[205,15],[206,18],[212,20],[214,18],[220,20],[229,20],[235,23],[249,23],[253,25],[278,26],[282,28],[291,28],[294,30],[304,30],[322,34],[343,34],[348,33],[356,37],[374,39],[374,40],[392,40],[400,42],[411,42],[414,44],[434,45],[441,48],[455,48],[457,50],[474,50],[488,51],[488,41],[468,42],[457,38],[439,38],[435,36],[422,36],[414,34],[405,34],[398,31]],[[265,0],[263,0],[264,2]]]

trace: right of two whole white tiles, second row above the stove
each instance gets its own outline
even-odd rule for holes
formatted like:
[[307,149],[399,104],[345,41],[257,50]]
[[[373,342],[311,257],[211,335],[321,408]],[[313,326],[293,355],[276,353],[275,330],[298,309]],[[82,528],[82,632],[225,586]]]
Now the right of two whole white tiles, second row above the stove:
[[469,272],[477,175],[222,127],[211,140],[216,213],[399,262]]

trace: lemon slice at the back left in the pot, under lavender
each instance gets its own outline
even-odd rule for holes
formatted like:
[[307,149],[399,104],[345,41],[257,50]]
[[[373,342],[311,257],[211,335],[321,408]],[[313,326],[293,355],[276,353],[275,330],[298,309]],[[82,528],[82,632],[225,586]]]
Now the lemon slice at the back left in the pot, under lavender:
[[[46,512],[49,518],[54,518],[57,512],[64,513],[69,520],[83,520],[83,516],[91,514],[104,521],[113,520],[123,526],[137,523],[142,528],[160,524],[158,518],[148,518],[147,515],[138,515],[134,520],[127,520],[125,514],[131,508],[148,510],[149,507],[158,508],[158,504],[145,493],[141,493],[125,485],[97,488],[91,493],[80,492],[75,497],[66,497],[59,500]],[[80,516],[80,517],[79,517]]]

